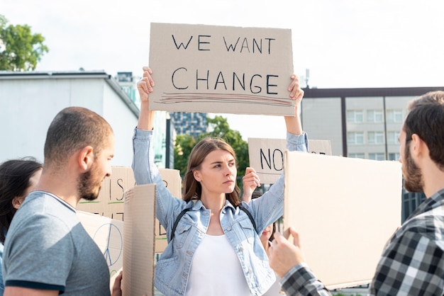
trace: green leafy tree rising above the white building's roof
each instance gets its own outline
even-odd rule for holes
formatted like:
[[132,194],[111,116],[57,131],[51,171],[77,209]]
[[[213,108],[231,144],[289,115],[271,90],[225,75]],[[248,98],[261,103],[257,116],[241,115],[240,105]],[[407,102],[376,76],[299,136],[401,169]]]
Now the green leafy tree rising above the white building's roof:
[[8,20],[0,15],[0,70],[35,70],[48,47],[45,38],[31,33],[29,25],[8,25]]

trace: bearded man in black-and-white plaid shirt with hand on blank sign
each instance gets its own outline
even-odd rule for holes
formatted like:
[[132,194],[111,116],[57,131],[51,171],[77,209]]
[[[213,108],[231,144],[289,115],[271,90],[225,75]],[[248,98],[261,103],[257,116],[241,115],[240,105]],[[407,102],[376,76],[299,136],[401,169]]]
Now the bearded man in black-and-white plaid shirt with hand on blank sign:
[[[399,135],[404,187],[427,199],[389,239],[370,295],[444,295],[444,91],[409,103]],[[294,244],[274,234],[270,266],[287,295],[331,295],[304,263],[299,234]]]

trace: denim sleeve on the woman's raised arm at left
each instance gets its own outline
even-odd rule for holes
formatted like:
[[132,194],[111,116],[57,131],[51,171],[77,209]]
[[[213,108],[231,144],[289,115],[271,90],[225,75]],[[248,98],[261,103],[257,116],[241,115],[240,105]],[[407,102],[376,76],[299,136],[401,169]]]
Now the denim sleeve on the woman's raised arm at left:
[[165,229],[168,218],[174,217],[177,207],[183,207],[185,202],[174,198],[160,176],[159,169],[154,162],[154,149],[152,148],[152,130],[138,130],[135,128],[133,136],[133,164],[136,185],[156,184],[156,217]]

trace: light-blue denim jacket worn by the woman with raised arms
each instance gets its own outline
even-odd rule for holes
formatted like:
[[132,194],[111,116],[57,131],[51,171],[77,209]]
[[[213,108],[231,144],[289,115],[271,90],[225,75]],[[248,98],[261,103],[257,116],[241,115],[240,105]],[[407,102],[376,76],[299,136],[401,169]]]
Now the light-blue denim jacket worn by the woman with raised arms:
[[[184,200],[174,198],[167,190],[154,163],[152,131],[136,128],[133,149],[132,167],[135,182],[138,185],[156,184],[156,217],[165,228],[167,238],[171,237],[172,225],[177,215],[184,208],[192,208],[177,224],[174,239],[172,242],[168,241],[169,244],[155,268],[155,287],[160,292],[168,296],[184,295],[194,251],[209,227],[210,210],[204,207],[201,200],[186,203]],[[304,133],[296,136],[287,132],[287,149],[306,152],[307,135]],[[282,173],[270,190],[264,193],[264,198],[254,199],[249,204],[243,203],[255,220],[259,233],[283,214],[283,177]],[[260,236],[253,229],[245,212],[239,207],[233,207],[228,200],[221,211],[221,226],[238,255],[251,295],[262,295],[274,283],[275,276],[260,242]]]

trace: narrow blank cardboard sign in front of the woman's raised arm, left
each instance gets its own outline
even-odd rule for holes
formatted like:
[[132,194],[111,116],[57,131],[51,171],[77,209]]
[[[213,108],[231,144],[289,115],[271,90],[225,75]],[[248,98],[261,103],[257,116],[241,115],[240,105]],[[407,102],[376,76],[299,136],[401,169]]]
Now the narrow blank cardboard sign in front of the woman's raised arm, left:
[[125,194],[122,295],[154,295],[155,184]]

